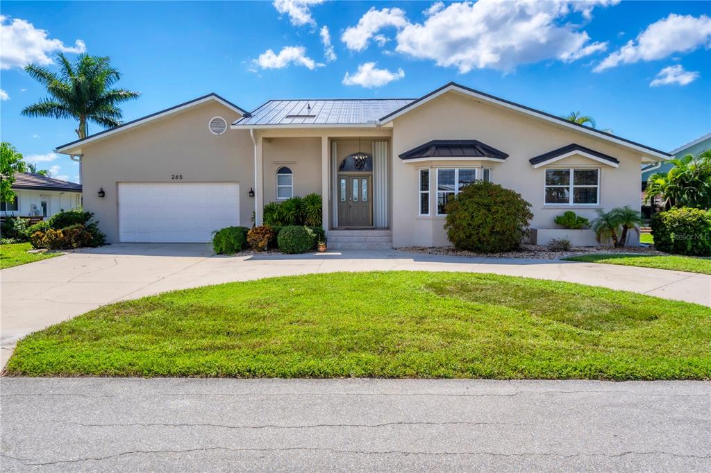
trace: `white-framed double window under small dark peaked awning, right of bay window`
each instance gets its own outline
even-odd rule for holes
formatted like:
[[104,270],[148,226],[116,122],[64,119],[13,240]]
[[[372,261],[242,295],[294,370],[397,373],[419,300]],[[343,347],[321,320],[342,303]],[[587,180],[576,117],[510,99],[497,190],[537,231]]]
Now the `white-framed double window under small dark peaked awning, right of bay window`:
[[599,189],[599,169],[545,170],[546,205],[597,205]]

